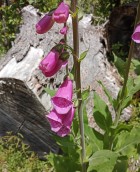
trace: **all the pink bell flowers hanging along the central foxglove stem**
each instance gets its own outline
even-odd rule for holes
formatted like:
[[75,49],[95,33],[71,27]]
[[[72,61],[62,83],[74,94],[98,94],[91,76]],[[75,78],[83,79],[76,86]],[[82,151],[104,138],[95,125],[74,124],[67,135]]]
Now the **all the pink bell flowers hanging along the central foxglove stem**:
[[[54,22],[65,23],[69,16],[69,6],[61,2],[55,11],[46,14],[37,24],[36,32],[38,34],[46,33],[51,29]],[[67,27],[60,30],[61,34],[67,33]],[[61,40],[58,45],[54,46],[48,55],[41,61],[39,69],[46,77],[51,77],[58,72],[61,67],[68,63],[68,54],[63,48],[65,42]],[[53,109],[46,116],[51,130],[57,135],[64,137],[70,133],[72,120],[74,117],[74,106],[72,103],[73,84],[69,77],[66,77],[59,87],[56,95],[51,98]]]

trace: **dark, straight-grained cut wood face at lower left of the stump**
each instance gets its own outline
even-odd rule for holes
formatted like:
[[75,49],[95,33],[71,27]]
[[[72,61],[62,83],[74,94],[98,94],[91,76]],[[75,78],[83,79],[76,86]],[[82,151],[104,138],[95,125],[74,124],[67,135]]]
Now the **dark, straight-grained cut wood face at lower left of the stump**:
[[20,132],[33,150],[58,152],[45,114],[44,107],[23,81],[0,78],[0,135]]

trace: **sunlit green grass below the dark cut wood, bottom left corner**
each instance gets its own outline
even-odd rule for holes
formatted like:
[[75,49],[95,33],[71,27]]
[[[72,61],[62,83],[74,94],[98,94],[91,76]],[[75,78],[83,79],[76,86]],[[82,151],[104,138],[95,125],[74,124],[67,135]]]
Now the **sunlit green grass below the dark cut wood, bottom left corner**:
[[22,139],[11,133],[0,138],[0,172],[49,172],[47,161],[39,160]]

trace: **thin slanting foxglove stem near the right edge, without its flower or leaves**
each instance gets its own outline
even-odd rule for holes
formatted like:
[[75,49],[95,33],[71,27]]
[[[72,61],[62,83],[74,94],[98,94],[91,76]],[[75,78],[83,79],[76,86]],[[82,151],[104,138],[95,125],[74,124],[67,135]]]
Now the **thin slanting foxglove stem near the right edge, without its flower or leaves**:
[[[136,15],[136,19],[135,19],[135,26],[137,25],[137,23],[140,20],[140,0],[139,0],[139,4],[138,4],[138,8],[137,8],[137,15]],[[119,107],[117,108],[117,112],[116,112],[116,119],[115,119],[115,126],[118,125],[119,119],[120,119],[120,115],[122,112],[121,109],[121,102],[123,101],[123,99],[125,98],[125,90],[126,90],[126,85],[127,85],[127,81],[128,81],[128,77],[129,77],[129,70],[130,70],[130,65],[131,65],[131,60],[132,60],[132,56],[133,56],[133,51],[134,51],[134,41],[131,40],[131,44],[130,44],[130,49],[129,49],[129,54],[128,54],[128,60],[127,60],[127,66],[126,66],[126,71],[124,73],[124,83],[123,83],[123,87],[122,87],[122,92],[121,92],[121,96],[120,96],[120,103],[119,103]]]

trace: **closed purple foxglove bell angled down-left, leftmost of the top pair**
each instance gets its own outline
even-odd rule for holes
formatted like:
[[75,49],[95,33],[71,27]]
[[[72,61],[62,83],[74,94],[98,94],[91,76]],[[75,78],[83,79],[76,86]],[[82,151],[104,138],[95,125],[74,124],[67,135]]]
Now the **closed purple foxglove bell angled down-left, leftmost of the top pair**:
[[54,24],[54,20],[52,19],[52,14],[46,14],[37,24],[36,24],[36,32],[38,34],[46,33],[51,29]]

